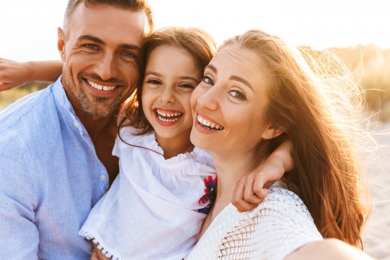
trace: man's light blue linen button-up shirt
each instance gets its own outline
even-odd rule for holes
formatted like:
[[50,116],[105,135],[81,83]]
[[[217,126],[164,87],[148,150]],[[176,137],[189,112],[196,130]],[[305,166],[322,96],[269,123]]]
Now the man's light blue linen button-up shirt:
[[61,77],[0,113],[0,259],[89,259],[78,230],[108,174]]

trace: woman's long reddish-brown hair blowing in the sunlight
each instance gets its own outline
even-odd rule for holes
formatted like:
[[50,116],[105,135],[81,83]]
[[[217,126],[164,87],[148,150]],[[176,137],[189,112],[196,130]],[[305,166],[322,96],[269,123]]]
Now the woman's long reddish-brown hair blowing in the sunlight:
[[[285,180],[298,188],[315,225],[324,238],[361,245],[368,215],[359,194],[356,141],[361,91],[350,72],[330,54],[289,47],[283,40],[259,30],[227,40],[254,52],[268,75],[265,119],[284,130],[270,140],[292,140],[295,169]],[[324,62],[326,61],[326,62]],[[276,143],[276,145],[275,145]],[[270,151],[271,152],[270,148]]]

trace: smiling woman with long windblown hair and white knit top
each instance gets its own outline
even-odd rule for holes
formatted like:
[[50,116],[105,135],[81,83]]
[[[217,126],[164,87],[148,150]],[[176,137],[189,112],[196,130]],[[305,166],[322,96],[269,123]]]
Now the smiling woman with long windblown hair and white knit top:
[[[227,40],[206,66],[191,98],[191,141],[212,154],[217,195],[188,259],[283,259],[322,237],[362,245],[367,210],[358,190],[356,110],[342,95],[342,70],[310,61],[251,30]],[[295,169],[257,208],[238,213],[230,200],[240,173],[286,138]],[[324,243],[314,245],[315,251]]]

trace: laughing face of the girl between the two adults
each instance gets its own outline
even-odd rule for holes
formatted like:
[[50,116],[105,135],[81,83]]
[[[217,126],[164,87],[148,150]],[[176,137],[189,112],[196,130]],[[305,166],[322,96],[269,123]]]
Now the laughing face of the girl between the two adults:
[[142,84],[142,109],[156,139],[190,143],[190,98],[202,75],[185,49],[162,45],[149,56]]

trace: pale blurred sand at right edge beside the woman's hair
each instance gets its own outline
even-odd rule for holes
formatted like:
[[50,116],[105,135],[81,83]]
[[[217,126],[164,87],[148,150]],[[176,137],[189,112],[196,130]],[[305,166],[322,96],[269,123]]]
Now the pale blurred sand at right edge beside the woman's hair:
[[[390,129],[390,123],[378,128],[385,129]],[[390,260],[390,134],[379,135],[376,140],[387,147],[381,148],[381,159],[369,168],[372,212],[365,250],[375,259]]]

